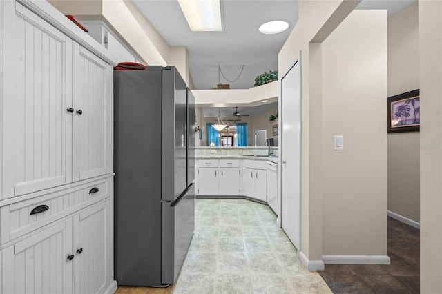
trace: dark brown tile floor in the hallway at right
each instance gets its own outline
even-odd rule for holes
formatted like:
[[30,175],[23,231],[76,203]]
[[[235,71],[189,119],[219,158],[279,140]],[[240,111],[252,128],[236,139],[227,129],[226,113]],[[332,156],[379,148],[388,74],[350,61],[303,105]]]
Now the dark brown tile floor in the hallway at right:
[[419,229],[388,217],[391,264],[326,264],[320,271],[334,293],[419,293]]

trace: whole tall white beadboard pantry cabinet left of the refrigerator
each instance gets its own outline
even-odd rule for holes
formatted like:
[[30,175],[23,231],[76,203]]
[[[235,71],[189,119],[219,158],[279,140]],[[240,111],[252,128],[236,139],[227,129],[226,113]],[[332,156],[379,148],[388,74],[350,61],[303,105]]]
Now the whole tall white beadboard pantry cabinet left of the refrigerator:
[[113,293],[114,58],[0,1],[0,293]]

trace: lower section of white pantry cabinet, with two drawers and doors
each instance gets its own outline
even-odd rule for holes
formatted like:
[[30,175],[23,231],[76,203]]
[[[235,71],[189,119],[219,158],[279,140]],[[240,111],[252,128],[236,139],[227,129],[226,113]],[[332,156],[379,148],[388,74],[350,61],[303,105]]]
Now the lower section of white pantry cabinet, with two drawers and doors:
[[[37,224],[39,222],[42,226],[35,228],[27,223],[21,231],[26,227],[35,229],[1,246],[0,293],[105,293],[112,287],[112,181],[105,179],[100,186],[101,183],[85,184],[83,190],[90,191],[88,193],[93,196],[86,202],[77,200],[77,206],[75,197],[70,195],[81,195],[81,190],[66,192],[66,197],[57,193],[52,198],[44,196],[48,198],[43,202],[49,204],[48,210],[30,216],[39,218]],[[69,206],[71,199],[73,205]],[[77,199],[81,200],[81,197]],[[23,202],[32,201],[34,199]],[[50,204],[63,204],[64,201],[67,201],[66,213],[59,212],[57,220],[45,225],[44,214],[56,209]],[[1,210],[2,221],[10,225],[15,222],[13,206],[23,206],[22,211],[27,207],[20,202],[2,207],[6,208]],[[75,207],[77,211],[69,214]],[[29,211],[21,213],[20,218],[27,219]],[[57,213],[48,215],[47,219],[53,219],[55,215]]]

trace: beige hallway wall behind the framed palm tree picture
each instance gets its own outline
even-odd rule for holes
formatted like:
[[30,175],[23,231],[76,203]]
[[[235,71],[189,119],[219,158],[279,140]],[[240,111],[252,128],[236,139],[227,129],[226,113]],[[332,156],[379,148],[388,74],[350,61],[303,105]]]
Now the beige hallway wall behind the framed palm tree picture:
[[[388,97],[419,89],[419,11],[388,18]],[[419,222],[419,132],[388,134],[388,210]]]

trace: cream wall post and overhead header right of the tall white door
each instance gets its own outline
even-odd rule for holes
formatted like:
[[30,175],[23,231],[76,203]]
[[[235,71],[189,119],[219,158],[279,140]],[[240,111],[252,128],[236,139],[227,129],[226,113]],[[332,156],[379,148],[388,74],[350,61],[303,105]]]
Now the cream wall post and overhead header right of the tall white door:
[[[299,20],[278,55],[280,77],[301,58],[301,252],[312,264],[322,262],[322,105],[320,46],[359,1],[300,1]],[[319,48],[318,48],[319,47]],[[311,50],[311,48],[314,48]],[[311,55],[311,56],[310,56]],[[313,60],[310,60],[310,57]],[[279,108],[281,108],[279,104]],[[319,108],[318,108],[319,107]],[[281,140],[282,138],[279,138]],[[278,150],[281,154],[281,149]],[[280,172],[280,170],[279,170]],[[305,262],[306,264],[306,262]],[[309,268],[309,264],[306,264]]]

